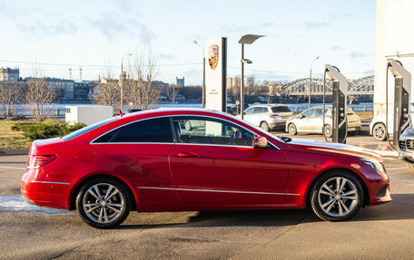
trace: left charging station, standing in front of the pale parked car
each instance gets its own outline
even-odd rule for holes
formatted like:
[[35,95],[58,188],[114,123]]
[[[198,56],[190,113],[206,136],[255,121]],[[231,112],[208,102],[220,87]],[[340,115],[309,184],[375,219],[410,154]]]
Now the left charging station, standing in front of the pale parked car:
[[327,73],[332,80],[332,142],[346,143],[348,132],[348,81],[347,78],[340,73],[340,70],[337,67],[329,64],[325,65],[325,72],[323,75],[323,127],[325,127],[325,82]]

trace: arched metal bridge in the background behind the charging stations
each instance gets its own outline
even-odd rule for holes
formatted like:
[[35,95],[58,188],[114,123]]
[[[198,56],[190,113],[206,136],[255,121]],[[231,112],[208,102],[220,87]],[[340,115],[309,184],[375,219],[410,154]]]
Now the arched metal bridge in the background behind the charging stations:
[[[309,78],[299,79],[289,82],[282,88],[282,94],[288,96],[308,96],[309,95]],[[326,94],[332,94],[332,81],[326,80]],[[373,95],[374,94],[374,76],[366,76],[358,80],[348,80],[348,95]],[[311,95],[323,95],[323,79],[312,78]]]

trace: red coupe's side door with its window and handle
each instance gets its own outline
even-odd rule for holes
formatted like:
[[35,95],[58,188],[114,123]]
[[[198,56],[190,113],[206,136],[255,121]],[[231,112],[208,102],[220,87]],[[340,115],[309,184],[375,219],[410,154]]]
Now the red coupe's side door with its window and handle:
[[[184,120],[202,121],[205,128],[185,130]],[[212,117],[176,116],[173,130],[170,169],[182,203],[205,208],[283,202],[288,162],[280,149],[252,149],[254,133]]]

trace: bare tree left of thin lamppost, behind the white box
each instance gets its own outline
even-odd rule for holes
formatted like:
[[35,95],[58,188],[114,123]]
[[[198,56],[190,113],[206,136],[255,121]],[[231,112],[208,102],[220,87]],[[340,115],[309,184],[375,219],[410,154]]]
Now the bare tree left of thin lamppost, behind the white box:
[[92,100],[100,105],[113,106],[113,110],[117,111],[120,107],[120,90],[119,81],[114,79],[113,72],[107,70],[94,88]]

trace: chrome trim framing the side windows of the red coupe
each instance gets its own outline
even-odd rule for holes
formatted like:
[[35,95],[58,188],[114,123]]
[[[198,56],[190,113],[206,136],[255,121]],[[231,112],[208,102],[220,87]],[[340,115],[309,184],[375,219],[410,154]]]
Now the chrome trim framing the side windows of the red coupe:
[[[217,114],[222,115],[222,114],[220,114],[220,113],[217,113]],[[161,118],[171,118],[171,119],[173,120],[173,117],[189,117],[189,116],[190,116],[190,117],[203,117],[203,118],[210,118],[210,119],[213,119],[213,120],[224,120],[224,121],[226,121],[226,122],[229,122],[229,123],[231,123],[231,124],[233,124],[233,125],[236,125],[236,126],[238,126],[238,127],[242,128],[242,129],[244,129],[244,130],[247,130],[248,132],[250,132],[251,134],[253,134],[253,135],[255,135],[255,136],[258,136],[256,133],[252,132],[251,130],[246,129],[246,128],[245,128],[245,127],[243,127],[242,125],[239,125],[239,124],[237,124],[237,123],[235,123],[235,122],[232,122],[231,120],[225,120],[225,119],[222,119],[222,118],[215,118],[215,117],[212,117],[212,116],[206,116],[206,115],[180,114],[180,115],[154,116],[154,117],[151,117],[151,118],[146,118],[146,119],[141,119],[141,120],[134,120],[134,121],[131,121],[131,122],[125,123],[125,124],[123,124],[123,125],[120,125],[120,126],[118,126],[118,127],[114,128],[114,129],[112,129],[112,130],[108,130],[108,131],[104,132],[102,135],[98,136],[97,138],[94,138],[94,140],[97,140],[97,139],[101,138],[102,136],[104,136],[105,134],[109,133],[110,131],[117,130],[117,129],[119,129],[119,128],[122,128],[122,127],[124,127],[124,126],[127,126],[127,125],[132,124],[132,123],[135,123],[135,122],[139,122],[139,121],[143,121],[143,120],[161,119]],[[173,135],[173,140],[174,140],[174,139],[175,139],[175,133],[174,133],[174,130],[173,130],[173,128],[172,128],[172,127],[171,127],[171,130],[172,130],[172,135]],[[234,146],[234,145],[218,145],[218,144],[214,145],[214,144],[202,144],[202,143],[198,144],[198,143],[179,143],[179,142],[173,142],[173,143],[171,143],[171,142],[168,142],[168,143],[167,143],[167,142],[94,142],[94,140],[91,140],[91,141],[89,142],[89,144],[91,144],[91,145],[95,145],[95,144],[181,144],[181,145],[183,145],[183,144],[186,144],[186,145],[203,145],[203,146],[208,145],[208,146],[223,146],[223,147],[242,147],[242,148],[251,148],[251,146]],[[268,143],[269,143],[269,144],[270,144],[270,145],[271,145],[274,149],[279,149],[279,150],[280,150],[280,148],[279,148],[279,147],[277,147],[276,145],[274,145],[273,143],[271,143],[271,141],[269,141],[269,140],[268,140]]]

